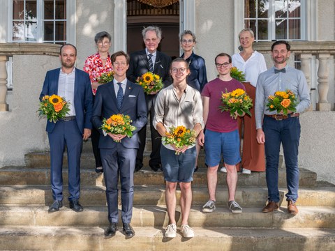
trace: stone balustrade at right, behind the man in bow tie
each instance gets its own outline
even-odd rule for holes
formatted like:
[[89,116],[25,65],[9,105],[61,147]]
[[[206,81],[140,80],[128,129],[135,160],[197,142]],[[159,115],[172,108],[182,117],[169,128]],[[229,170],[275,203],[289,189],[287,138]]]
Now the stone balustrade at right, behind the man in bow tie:
[[[254,48],[262,54],[269,54],[273,42],[258,42]],[[316,102],[316,110],[330,111],[331,103],[328,101],[329,84],[334,89],[334,79],[329,79],[329,66],[334,68],[335,42],[334,41],[291,41],[291,53],[299,55],[301,60],[301,70],[306,76],[309,89],[311,89],[311,61],[313,57],[318,60],[318,102]],[[316,77],[315,77],[316,79]],[[332,97],[334,100],[334,97]]]

